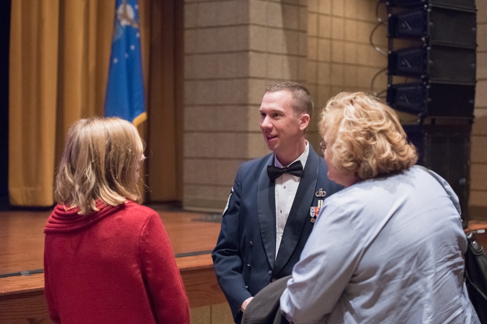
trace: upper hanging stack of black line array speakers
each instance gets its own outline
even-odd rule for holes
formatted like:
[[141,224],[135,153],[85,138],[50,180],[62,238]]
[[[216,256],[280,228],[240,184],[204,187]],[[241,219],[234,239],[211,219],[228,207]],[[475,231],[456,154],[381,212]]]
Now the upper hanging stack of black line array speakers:
[[[477,68],[477,19],[473,0],[391,0],[386,4],[389,9],[388,103],[420,118],[473,118]],[[412,46],[395,49],[395,38],[412,40]],[[413,81],[394,85],[391,76]],[[436,102],[442,96],[452,97],[451,91],[453,94],[458,91],[461,98]],[[420,107],[405,104],[405,98],[420,96],[425,102]],[[443,103],[447,105],[442,108]]]

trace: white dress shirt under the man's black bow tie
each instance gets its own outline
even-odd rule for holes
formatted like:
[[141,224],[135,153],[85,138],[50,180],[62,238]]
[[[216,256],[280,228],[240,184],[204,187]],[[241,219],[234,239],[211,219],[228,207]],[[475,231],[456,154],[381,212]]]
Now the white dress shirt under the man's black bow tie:
[[[309,153],[309,145],[308,141],[306,141],[306,149],[304,152],[294,160],[292,163],[296,161],[301,161],[301,165],[303,166],[306,164],[306,160],[308,159]],[[283,166],[281,162],[277,159],[274,155],[274,165],[279,168],[289,167],[289,165]],[[287,218],[289,216],[289,212],[291,211],[291,207],[294,202],[294,198],[296,197],[296,192],[298,191],[298,186],[300,185],[301,178],[295,175],[291,175],[289,173],[282,174],[279,178],[276,179],[275,182],[275,197],[276,197],[276,257],[279,251],[279,246],[281,245],[282,234],[284,233],[284,226],[286,226]]]

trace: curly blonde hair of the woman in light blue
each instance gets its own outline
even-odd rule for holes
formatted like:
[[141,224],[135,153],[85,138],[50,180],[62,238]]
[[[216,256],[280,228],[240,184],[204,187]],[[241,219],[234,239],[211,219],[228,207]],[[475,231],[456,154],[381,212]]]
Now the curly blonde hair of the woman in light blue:
[[337,94],[320,116],[330,162],[343,174],[367,180],[406,170],[418,159],[393,109],[363,92]]

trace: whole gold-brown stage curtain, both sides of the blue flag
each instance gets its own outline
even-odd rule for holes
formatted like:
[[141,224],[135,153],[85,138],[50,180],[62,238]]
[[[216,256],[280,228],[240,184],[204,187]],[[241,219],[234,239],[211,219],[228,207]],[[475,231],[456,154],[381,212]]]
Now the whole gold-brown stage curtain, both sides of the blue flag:
[[[152,201],[181,200],[182,162],[177,150],[182,146],[183,93],[182,87],[175,85],[182,84],[182,3],[138,2],[149,116],[139,131],[149,133],[151,139],[146,149],[150,158],[146,173],[150,173],[147,180]],[[114,0],[12,0],[11,205],[53,205],[56,166],[69,126],[79,118],[103,115],[114,8]],[[173,17],[175,10],[177,19]],[[180,24],[178,33],[176,23]]]

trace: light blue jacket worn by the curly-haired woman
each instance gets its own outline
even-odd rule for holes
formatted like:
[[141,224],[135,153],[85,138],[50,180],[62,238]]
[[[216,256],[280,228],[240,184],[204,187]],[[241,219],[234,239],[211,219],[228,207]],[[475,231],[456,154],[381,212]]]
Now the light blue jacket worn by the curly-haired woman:
[[464,284],[467,239],[445,189],[412,167],[325,200],[281,296],[288,320],[479,323]]

